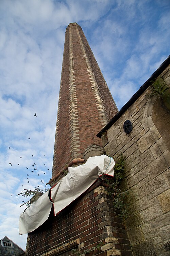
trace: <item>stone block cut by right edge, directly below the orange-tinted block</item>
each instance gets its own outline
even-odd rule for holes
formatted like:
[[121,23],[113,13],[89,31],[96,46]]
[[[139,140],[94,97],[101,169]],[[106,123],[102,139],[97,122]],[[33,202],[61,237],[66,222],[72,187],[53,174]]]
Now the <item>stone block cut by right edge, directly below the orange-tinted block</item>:
[[151,230],[155,230],[155,229],[159,230],[161,227],[168,225],[169,220],[170,220],[170,212],[167,212],[150,221],[149,226]]

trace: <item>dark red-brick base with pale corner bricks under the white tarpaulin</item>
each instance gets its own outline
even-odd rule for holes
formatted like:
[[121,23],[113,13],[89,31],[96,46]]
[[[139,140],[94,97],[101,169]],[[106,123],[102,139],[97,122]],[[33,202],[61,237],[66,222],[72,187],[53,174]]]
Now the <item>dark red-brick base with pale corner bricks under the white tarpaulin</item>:
[[[101,186],[99,181],[96,186],[98,187],[92,186],[86,194],[56,217],[51,211],[48,221],[28,235],[25,255],[73,256],[76,255],[72,252],[74,248],[83,256],[84,250],[89,250],[102,242],[99,250],[87,255],[132,256],[122,220],[114,215],[113,199],[107,194],[107,188]],[[72,245],[73,241],[78,243],[74,242]]]

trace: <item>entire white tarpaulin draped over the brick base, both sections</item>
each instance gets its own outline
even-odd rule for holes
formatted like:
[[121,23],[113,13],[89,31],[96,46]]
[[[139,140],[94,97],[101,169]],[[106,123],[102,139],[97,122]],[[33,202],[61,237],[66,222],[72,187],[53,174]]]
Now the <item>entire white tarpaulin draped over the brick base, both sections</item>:
[[[102,155],[89,157],[84,165],[68,167],[68,174],[51,188],[51,200],[54,214],[58,214],[72,201],[82,195],[101,176],[114,174],[113,158]],[[49,217],[52,202],[48,191],[20,214],[19,234],[37,229]]]

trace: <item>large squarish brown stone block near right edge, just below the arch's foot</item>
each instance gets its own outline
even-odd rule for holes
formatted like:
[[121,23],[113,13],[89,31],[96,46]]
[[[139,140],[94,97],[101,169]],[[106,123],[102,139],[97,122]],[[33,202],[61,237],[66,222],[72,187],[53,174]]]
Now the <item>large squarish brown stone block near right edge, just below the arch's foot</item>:
[[149,163],[147,166],[147,170],[149,172],[149,175],[151,179],[158,176],[160,173],[164,172],[168,169],[167,161],[165,160],[164,156],[161,155],[158,158],[156,158],[153,162]]

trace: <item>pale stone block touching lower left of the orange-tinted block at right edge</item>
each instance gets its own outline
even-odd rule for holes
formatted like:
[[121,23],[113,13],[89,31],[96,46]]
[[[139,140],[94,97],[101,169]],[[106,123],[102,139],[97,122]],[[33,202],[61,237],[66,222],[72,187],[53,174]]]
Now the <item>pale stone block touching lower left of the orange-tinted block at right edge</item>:
[[158,204],[153,205],[152,207],[146,209],[142,212],[142,217],[144,222],[148,222],[151,219],[154,219],[162,214],[162,210]]

